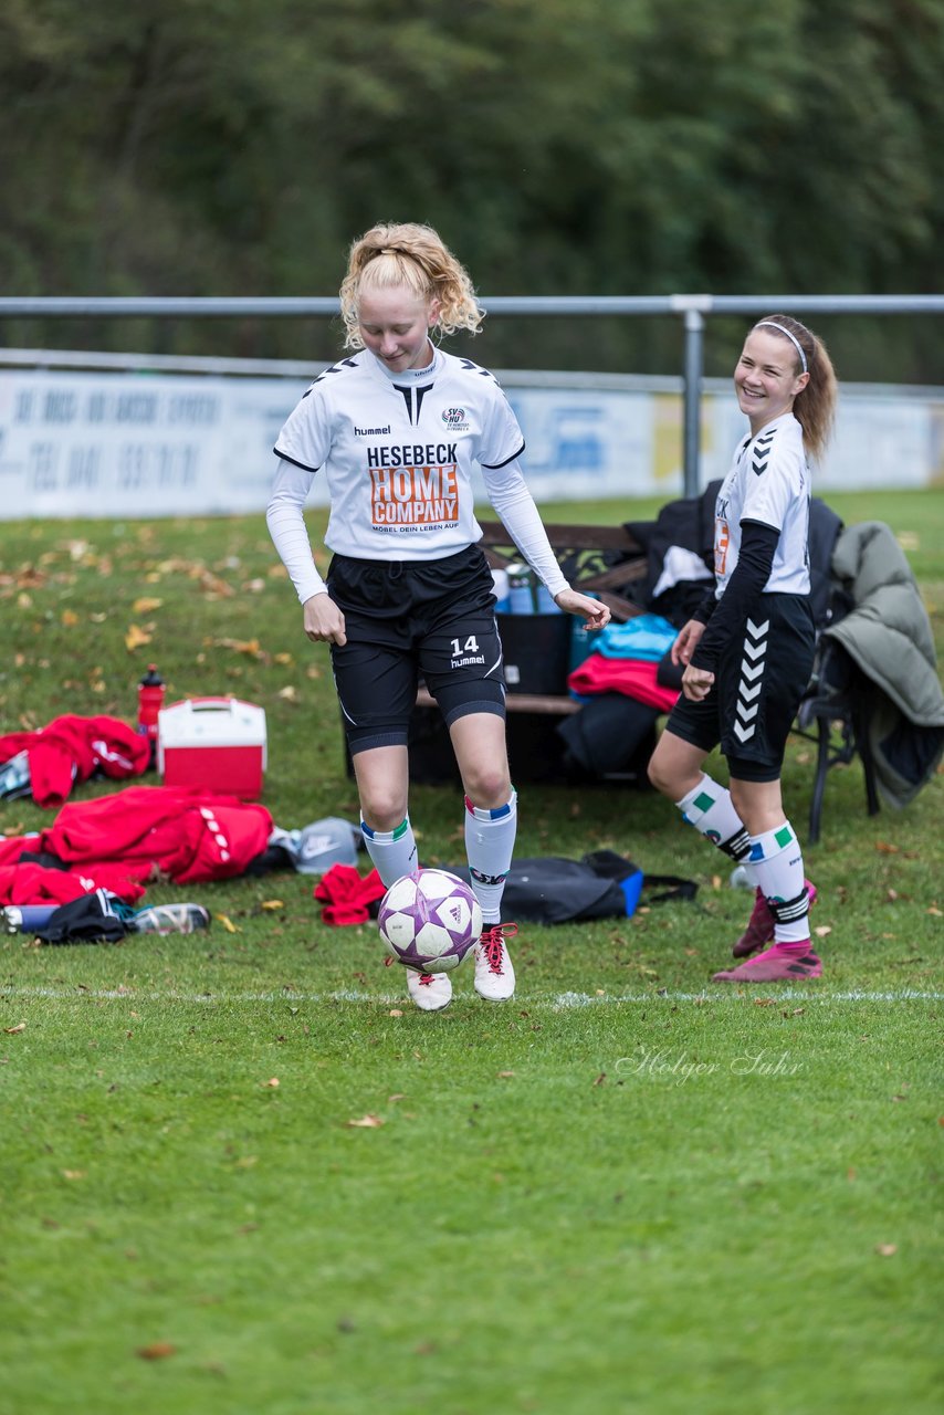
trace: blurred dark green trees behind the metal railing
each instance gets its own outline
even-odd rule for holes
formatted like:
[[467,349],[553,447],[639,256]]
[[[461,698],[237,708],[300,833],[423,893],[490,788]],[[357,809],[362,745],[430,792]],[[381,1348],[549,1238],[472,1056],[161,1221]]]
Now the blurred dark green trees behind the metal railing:
[[[388,218],[494,294],[938,287],[936,0],[13,0],[0,50],[14,293],[331,294]],[[943,376],[927,325],[858,328],[844,376]],[[677,330],[541,331],[497,321],[493,362],[677,366]]]

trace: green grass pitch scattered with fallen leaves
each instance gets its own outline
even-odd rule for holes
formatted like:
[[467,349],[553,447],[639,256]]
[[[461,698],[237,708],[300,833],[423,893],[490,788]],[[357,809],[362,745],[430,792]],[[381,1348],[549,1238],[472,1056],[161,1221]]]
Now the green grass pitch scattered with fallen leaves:
[[[900,533],[940,651],[944,498],[828,499]],[[265,706],[279,825],[355,819],[324,652],[272,566],[262,518],[0,525],[1,730],[130,719],[153,659],[171,698]],[[784,774],[801,835],[811,754]],[[0,1024],[25,1023],[0,1034],[0,1411],[938,1409],[941,799],[938,777],[869,819],[859,766],[831,773],[807,988],[709,985],[747,896],[613,787],[524,785],[519,855],[611,848],[698,901],[522,930],[504,1007],[463,971],[415,1012],[374,928],[324,927],[293,872],[149,887],[234,932],[0,935]],[[416,787],[412,814],[425,860],[456,860],[457,792]],[[0,805],[8,835],[50,819]]]

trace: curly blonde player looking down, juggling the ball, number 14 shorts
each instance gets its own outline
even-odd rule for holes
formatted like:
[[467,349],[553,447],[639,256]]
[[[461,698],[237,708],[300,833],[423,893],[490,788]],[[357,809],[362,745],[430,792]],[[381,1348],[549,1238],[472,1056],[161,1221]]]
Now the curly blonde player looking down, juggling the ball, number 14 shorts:
[[[416,869],[408,815],[408,727],[418,678],[449,727],[466,791],[466,852],[484,930],[476,990],[511,998],[501,894],[517,831],[505,747],[505,685],[491,572],[471,474],[562,610],[603,628],[610,611],[572,590],[553,558],[518,457],[524,439],[495,379],[444,354],[430,333],[481,327],[468,275],[422,225],[379,225],[354,242],[341,284],[345,347],[276,441],[267,522],[304,631],[331,665],[361,798],[367,849],[385,884]],[[323,467],[334,552],[321,580],[303,507]],[[451,998],[449,974],[408,972],[425,1012]]]

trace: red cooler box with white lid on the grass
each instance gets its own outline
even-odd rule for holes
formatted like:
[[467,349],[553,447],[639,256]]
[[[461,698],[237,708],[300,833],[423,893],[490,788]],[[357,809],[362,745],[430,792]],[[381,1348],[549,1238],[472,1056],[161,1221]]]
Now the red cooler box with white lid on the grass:
[[161,708],[157,770],[166,787],[258,801],[266,770],[265,709],[238,698],[185,698]]

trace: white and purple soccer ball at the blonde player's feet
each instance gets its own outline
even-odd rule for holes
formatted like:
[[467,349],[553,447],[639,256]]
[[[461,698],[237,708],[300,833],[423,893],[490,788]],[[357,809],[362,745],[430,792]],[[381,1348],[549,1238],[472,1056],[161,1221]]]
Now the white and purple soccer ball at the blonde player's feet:
[[481,908],[446,870],[413,870],[388,889],[376,916],[386,951],[420,972],[450,972],[478,941]]

